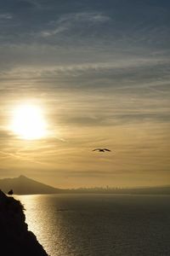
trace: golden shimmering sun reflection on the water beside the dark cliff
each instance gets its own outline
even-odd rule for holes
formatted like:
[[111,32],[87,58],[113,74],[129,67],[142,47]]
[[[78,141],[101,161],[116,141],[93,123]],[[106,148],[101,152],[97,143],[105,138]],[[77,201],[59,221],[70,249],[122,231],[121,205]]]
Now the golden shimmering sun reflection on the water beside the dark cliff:
[[[50,197],[47,195],[15,195],[14,197],[20,200],[26,209],[28,230],[37,236],[37,240],[47,253],[53,256],[63,255],[63,252],[65,255],[71,255],[67,252],[67,247],[64,246],[66,234],[63,230],[65,225],[63,214],[56,210],[53,200],[50,201]],[[60,208],[59,205],[57,208]]]

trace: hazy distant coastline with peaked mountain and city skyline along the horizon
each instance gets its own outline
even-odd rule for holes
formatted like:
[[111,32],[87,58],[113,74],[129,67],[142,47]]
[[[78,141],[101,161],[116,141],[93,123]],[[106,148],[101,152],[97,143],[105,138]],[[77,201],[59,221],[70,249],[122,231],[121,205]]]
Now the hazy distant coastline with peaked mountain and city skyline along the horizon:
[[39,183],[29,177],[0,179],[0,189],[6,194],[9,189],[15,195],[42,195],[42,194],[132,194],[132,195],[170,195],[170,185],[139,188],[80,188],[80,189],[56,189],[43,183]]

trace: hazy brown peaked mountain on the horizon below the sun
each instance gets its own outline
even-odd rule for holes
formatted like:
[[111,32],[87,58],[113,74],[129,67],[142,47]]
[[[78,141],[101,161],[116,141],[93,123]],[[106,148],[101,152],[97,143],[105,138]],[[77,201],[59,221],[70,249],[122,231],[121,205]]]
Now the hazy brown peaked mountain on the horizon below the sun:
[[62,191],[22,175],[0,179],[0,189],[5,193],[13,189],[15,195],[57,194]]

